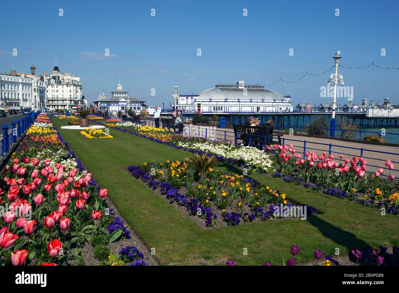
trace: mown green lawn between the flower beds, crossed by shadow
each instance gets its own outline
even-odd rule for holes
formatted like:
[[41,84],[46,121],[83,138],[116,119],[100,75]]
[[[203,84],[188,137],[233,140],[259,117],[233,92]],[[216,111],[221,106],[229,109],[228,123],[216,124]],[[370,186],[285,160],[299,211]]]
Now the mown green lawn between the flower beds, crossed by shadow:
[[[304,263],[314,258],[315,249],[333,254],[335,248],[340,248],[341,254],[348,254],[356,248],[399,244],[398,216],[381,216],[378,210],[251,172],[248,177],[286,193],[295,203],[316,207],[321,214],[308,216],[307,220],[203,229],[126,173],[128,165],[183,160],[190,153],[114,129],[110,129],[113,139],[88,139],[79,130],[61,129],[67,125],[63,120],[54,118],[53,122],[93,178],[108,188],[110,199],[134,232],[149,248],[155,248],[163,265],[221,264],[230,259],[239,265],[280,265],[291,257],[291,244],[301,246],[296,261]],[[215,167],[242,173],[221,162]],[[243,255],[244,248],[247,255]]]

